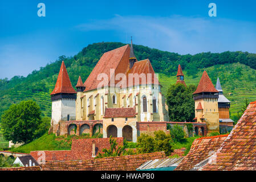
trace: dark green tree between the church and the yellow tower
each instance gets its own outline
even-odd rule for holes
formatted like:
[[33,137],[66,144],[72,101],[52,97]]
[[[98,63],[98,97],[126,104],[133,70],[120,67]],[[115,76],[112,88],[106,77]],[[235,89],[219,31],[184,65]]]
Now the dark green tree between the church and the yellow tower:
[[188,87],[180,83],[170,85],[166,95],[166,104],[168,105],[170,121],[191,122],[193,120],[193,92],[195,90],[195,85],[189,85]]

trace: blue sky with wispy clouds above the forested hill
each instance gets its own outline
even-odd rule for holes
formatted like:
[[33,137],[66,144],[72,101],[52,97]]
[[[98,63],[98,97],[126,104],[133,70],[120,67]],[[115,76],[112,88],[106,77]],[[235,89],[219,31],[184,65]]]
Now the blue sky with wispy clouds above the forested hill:
[[[37,15],[38,3],[46,17]],[[217,17],[208,15],[216,3]],[[96,42],[181,54],[256,53],[256,1],[1,1],[0,78],[27,76]]]

